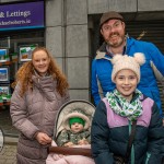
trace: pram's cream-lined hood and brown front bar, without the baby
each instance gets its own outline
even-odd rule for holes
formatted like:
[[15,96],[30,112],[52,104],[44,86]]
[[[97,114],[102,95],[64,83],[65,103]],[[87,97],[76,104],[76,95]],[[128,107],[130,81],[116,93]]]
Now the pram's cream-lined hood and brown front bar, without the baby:
[[[90,122],[92,122],[92,118],[95,112],[95,106],[84,99],[73,99],[73,101],[69,101],[66,104],[63,104],[59,112],[58,115],[56,117],[56,122],[55,122],[55,129],[54,129],[54,139],[56,141],[56,138],[58,137],[58,134],[65,129],[63,125],[62,125],[62,120],[63,118],[69,115],[72,110],[74,110],[75,108],[80,108],[81,110],[83,110],[83,113],[85,113],[85,115],[89,117],[89,119],[91,120]],[[89,130],[91,130],[91,124],[90,124],[90,128]],[[63,154],[63,155],[83,155],[83,156],[92,156],[91,155],[91,148],[66,148],[66,147],[49,147],[48,148],[48,152],[49,153],[56,153],[56,154]]]

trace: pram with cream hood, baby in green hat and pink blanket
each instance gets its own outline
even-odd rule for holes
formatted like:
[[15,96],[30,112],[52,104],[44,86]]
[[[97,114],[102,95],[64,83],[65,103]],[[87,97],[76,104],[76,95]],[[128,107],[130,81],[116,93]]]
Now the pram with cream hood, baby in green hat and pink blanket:
[[94,110],[86,101],[70,101],[60,108],[46,164],[94,164],[90,155],[85,156],[85,150],[91,151]]

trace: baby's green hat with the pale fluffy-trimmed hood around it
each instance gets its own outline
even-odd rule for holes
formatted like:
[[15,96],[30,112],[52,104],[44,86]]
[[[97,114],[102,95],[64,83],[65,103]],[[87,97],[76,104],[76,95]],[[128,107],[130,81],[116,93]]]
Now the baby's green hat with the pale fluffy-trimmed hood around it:
[[73,122],[80,122],[84,126],[84,129],[89,129],[90,127],[90,119],[89,117],[83,113],[82,109],[75,108],[68,114],[62,121],[62,126],[70,130],[70,125]]

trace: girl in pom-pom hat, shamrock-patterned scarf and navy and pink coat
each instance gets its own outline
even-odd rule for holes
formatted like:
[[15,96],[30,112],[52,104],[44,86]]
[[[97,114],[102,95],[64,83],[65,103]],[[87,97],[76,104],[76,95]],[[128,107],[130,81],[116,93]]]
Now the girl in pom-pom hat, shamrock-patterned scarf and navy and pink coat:
[[[137,90],[144,56],[116,55],[112,63],[112,80],[116,89],[101,101],[92,121],[91,147],[94,161],[96,164],[113,164],[116,162],[114,155],[117,155],[129,164],[161,164],[164,142],[162,118],[155,102]],[[134,121],[134,139],[128,151],[129,134]],[[126,155],[127,152],[130,155]]]

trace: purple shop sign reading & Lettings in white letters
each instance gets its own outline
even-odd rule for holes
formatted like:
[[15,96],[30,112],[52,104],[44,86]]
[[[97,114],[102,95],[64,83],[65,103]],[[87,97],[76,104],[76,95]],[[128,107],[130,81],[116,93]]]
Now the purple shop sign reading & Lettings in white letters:
[[45,27],[44,1],[0,5],[0,31]]

